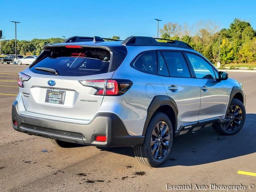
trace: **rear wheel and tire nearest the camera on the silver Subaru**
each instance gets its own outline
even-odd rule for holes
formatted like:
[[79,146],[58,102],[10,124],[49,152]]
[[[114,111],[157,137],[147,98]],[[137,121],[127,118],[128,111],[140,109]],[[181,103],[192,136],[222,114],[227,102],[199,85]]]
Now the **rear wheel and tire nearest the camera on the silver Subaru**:
[[[162,132],[160,128],[160,133],[162,132],[162,134],[159,139],[156,137],[158,135],[156,134],[157,125],[160,127],[164,125],[162,130],[165,130],[165,132]],[[172,148],[172,140],[173,130],[170,119],[166,114],[156,112],[148,124],[144,144],[133,147],[134,156],[138,162],[144,166],[158,167],[168,158]],[[164,144],[168,144],[168,146],[164,147]],[[156,150],[152,150],[154,148]],[[160,154],[162,154],[162,156],[160,156]]]

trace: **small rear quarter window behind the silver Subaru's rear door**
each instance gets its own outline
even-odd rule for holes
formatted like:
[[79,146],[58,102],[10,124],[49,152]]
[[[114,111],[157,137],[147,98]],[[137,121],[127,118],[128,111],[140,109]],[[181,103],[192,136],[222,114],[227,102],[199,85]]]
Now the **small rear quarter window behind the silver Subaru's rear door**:
[[156,52],[147,52],[139,56],[133,64],[133,67],[137,70],[149,73],[157,74],[157,59]]

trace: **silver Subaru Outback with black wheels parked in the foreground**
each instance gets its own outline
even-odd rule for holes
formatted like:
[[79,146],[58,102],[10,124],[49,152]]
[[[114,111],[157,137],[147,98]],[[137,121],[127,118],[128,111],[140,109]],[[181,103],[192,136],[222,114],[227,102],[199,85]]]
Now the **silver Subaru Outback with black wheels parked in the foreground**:
[[246,117],[242,84],[181,41],[74,36],[44,46],[18,85],[15,130],[60,147],[132,146],[152,167],[175,136],[208,126],[236,134]]

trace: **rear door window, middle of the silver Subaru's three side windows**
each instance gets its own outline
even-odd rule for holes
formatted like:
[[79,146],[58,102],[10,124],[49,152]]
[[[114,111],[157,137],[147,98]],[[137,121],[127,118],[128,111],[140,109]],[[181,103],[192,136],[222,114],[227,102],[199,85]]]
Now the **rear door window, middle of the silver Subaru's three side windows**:
[[191,77],[181,52],[162,52],[171,77]]

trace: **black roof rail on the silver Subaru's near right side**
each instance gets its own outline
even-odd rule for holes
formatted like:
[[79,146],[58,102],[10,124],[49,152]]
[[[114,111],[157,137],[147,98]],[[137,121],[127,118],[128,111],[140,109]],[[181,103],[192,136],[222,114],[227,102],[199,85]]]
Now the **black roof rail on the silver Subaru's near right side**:
[[[166,40],[167,42],[158,42],[159,40]],[[126,38],[122,44],[127,46],[170,46],[170,47],[179,47],[185,49],[194,50],[189,44],[183,41],[162,39],[162,38],[153,38],[153,37],[144,37],[144,36],[130,36]]]

